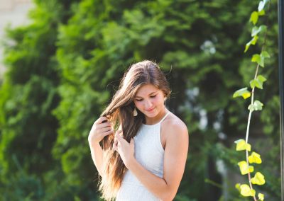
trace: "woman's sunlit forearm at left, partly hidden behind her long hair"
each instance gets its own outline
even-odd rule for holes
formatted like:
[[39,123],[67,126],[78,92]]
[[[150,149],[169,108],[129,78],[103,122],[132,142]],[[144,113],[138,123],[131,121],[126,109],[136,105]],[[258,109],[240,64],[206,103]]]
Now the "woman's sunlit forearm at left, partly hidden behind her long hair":
[[89,143],[89,148],[91,149],[92,160],[94,161],[94,166],[96,166],[99,175],[102,176],[102,164],[103,164],[103,151],[99,143]]

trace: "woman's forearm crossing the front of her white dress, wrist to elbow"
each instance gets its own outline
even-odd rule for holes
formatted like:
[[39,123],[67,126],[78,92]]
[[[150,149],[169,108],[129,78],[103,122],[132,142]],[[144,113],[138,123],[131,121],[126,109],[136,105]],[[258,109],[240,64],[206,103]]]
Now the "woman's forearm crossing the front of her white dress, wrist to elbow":
[[129,171],[140,180],[140,182],[153,193],[160,200],[168,201],[173,200],[175,197],[174,190],[170,188],[164,178],[155,176],[155,174],[148,171],[146,168],[141,166],[136,159],[133,159],[129,164]]

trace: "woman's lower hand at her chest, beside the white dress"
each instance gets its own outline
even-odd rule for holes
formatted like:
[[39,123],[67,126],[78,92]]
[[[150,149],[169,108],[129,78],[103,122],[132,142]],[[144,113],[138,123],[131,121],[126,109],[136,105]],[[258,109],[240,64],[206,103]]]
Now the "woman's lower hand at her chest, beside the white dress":
[[120,134],[122,134],[121,131],[116,132],[112,149],[119,152],[124,165],[129,168],[129,164],[134,159],[134,139],[131,139],[129,143]]

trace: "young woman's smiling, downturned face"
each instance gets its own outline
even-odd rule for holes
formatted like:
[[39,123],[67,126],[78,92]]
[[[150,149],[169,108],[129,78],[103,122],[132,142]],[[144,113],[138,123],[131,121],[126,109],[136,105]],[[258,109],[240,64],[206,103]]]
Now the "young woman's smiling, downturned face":
[[164,100],[163,91],[153,84],[146,84],[138,89],[134,97],[134,104],[147,117],[155,117],[165,110]]

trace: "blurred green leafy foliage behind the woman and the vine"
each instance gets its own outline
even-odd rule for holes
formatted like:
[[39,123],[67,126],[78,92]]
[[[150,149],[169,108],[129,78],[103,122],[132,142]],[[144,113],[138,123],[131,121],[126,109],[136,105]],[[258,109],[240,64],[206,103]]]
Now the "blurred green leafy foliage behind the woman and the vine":
[[[0,200],[99,200],[98,176],[87,136],[129,65],[160,64],[172,96],[167,107],[187,124],[190,149],[175,200],[252,200],[234,141],[244,138],[249,100],[233,99],[249,87],[256,65],[244,54],[251,11],[258,1],[35,0],[31,23],[7,28],[6,73],[0,83]],[[249,142],[261,153],[256,187],[280,200],[277,1],[266,16],[261,74]]]

